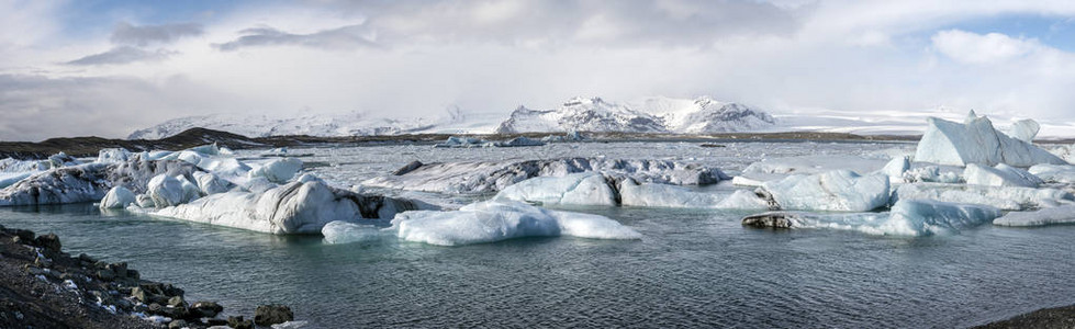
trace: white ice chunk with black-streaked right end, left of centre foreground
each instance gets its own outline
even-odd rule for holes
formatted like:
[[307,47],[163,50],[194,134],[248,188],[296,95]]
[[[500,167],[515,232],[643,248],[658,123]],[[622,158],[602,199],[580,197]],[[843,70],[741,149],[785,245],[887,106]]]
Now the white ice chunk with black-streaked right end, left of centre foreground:
[[284,235],[321,232],[333,220],[391,218],[400,212],[430,208],[436,207],[412,200],[357,194],[311,181],[288,183],[265,193],[212,194],[152,214]]

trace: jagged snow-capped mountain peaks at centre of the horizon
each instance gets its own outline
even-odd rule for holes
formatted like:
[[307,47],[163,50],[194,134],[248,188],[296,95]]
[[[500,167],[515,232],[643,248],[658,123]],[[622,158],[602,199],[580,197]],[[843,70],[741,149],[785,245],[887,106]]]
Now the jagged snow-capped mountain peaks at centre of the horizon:
[[710,134],[757,131],[775,120],[765,112],[707,97],[696,100],[643,99],[631,104],[600,98],[575,98],[553,110],[519,106],[497,127],[497,133],[625,132]]

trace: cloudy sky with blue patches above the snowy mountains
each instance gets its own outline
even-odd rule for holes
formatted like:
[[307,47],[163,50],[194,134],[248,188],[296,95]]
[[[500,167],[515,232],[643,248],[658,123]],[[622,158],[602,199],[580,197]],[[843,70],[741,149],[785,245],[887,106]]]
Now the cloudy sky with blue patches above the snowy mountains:
[[1075,121],[1075,1],[0,0],[0,140],[710,95]]

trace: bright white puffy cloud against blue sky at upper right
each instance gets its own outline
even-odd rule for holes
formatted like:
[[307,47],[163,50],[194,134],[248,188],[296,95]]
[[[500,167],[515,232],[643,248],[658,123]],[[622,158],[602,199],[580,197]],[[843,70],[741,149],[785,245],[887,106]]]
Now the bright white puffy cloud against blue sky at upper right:
[[976,34],[960,30],[938,32],[931,38],[938,52],[964,64],[997,64],[1042,49],[1037,39],[1014,38],[1000,33]]

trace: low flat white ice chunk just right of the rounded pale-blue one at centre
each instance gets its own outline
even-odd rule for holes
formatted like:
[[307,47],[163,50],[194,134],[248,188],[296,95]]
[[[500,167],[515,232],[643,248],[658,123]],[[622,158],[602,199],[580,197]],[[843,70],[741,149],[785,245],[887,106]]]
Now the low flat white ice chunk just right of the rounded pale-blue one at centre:
[[619,196],[620,204],[625,206],[670,208],[712,208],[723,200],[713,193],[693,192],[668,184],[639,184],[632,180],[625,180],[619,185]]

